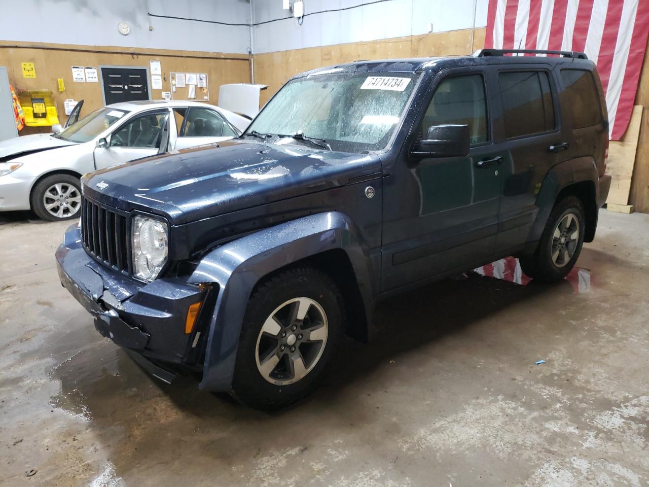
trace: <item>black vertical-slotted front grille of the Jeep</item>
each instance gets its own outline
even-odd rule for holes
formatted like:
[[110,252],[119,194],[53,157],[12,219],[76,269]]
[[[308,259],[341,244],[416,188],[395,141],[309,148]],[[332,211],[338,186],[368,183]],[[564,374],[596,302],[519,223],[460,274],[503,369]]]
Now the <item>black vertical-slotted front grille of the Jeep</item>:
[[81,242],[95,260],[130,272],[128,215],[83,197]]

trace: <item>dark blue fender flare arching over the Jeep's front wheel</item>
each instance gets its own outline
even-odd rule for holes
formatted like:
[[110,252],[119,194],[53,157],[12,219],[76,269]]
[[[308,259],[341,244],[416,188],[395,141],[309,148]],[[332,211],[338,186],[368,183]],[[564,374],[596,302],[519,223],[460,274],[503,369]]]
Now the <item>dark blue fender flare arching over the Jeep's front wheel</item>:
[[360,232],[340,212],[325,212],[281,223],[225,243],[208,253],[189,282],[219,286],[206,344],[200,388],[230,388],[245,310],[257,282],[268,273],[331,249],[343,249],[356,274],[366,316],[373,300],[369,251]]

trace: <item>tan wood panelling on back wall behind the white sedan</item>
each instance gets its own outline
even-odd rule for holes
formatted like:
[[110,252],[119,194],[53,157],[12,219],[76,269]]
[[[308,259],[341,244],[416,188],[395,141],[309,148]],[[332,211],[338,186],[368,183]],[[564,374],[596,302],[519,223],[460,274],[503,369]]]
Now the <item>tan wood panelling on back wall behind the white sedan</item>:
[[[171,71],[208,73],[210,103],[218,103],[219,86],[226,83],[250,82],[248,55],[204,53],[200,51],[169,51],[129,47],[0,42],[0,66],[6,66],[9,82],[16,90],[52,90],[61,123],[67,117],[63,101],[84,99],[82,115],[103,105],[101,75],[99,82],[73,82],[71,66],[137,66],[149,68],[149,61],[160,61],[162,90],[149,90],[151,99],[162,99],[163,91],[171,91]],[[35,79],[23,78],[21,62],[33,62]],[[149,73],[151,74],[151,73]],[[63,78],[66,91],[58,92],[57,79]],[[49,127],[25,127],[20,134],[49,132]]]

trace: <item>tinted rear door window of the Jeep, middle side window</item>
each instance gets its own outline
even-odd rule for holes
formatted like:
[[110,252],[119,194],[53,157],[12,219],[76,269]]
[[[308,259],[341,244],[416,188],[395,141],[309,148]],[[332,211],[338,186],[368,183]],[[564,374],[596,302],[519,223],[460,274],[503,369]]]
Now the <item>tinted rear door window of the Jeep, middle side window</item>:
[[545,71],[498,74],[507,138],[555,129],[554,105]]

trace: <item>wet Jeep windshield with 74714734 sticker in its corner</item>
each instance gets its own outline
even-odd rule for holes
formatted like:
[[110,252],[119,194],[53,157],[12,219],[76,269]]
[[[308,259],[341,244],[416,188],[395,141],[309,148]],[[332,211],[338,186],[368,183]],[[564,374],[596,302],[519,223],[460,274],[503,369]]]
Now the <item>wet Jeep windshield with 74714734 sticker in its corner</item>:
[[404,112],[414,75],[372,74],[323,73],[289,81],[244,136],[334,151],[383,149]]

